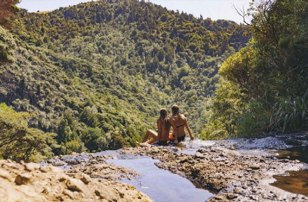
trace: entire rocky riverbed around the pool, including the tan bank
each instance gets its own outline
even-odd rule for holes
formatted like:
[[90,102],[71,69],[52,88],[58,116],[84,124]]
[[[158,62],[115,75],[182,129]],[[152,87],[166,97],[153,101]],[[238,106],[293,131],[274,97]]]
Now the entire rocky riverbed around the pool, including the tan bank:
[[[306,146],[307,134],[300,137],[303,138],[297,137],[296,144]],[[159,159],[159,168],[214,192],[208,201],[308,201],[308,196],[271,185],[275,175],[308,169],[307,164],[297,159],[278,159],[264,150],[289,148],[280,140],[281,137],[234,139],[202,142],[206,143],[203,146],[197,140],[191,143],[192,147],[187,142],[177,147],[144,144],[118,152]],[[40,165],[1,160],[0,197],[6,201],[151,201],[132,185],[115,181],[140,174],[108,163],[110,158],[117,156],[73,153]]]

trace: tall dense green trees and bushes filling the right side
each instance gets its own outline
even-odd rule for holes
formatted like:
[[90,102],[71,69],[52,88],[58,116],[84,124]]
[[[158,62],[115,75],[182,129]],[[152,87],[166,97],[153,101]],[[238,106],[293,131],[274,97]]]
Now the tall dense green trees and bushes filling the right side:
[[256,1],[246,14],[253,37],[220,68],[202,136],[307,130],[308,2]]

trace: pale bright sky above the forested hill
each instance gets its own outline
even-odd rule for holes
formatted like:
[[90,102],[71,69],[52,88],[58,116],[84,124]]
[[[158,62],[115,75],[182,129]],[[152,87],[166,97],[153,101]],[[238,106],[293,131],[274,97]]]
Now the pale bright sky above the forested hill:
[[[1,1],[1,0],[0,0]],[[92,0],[22,0],[18,7],[27,9],[29,12],[50,11],[80,4],[82,2],[90,2]],[[154,4],[166,7],[168,10],[179,10],[193,14],[195,17],[203,16],[203,18],[228,19],[237,23],[243,23],[243,18],[239,16],[234,6],[242,9],[248,8],[251,0],[145,0]]]

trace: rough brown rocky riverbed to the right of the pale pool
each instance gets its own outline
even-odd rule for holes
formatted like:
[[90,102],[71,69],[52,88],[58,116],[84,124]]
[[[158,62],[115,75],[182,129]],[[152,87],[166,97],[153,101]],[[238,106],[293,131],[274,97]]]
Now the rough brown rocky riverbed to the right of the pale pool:
[[279,160],[271,155],[243,155],[221,147],[200,148],[194,155],[146,145],[121,151],[160,159],[158,167],[216,191],[217,195],[208,201],[308,201],[304,195],[269,185],[275,180],[273,175],[307,168],[298,160]]

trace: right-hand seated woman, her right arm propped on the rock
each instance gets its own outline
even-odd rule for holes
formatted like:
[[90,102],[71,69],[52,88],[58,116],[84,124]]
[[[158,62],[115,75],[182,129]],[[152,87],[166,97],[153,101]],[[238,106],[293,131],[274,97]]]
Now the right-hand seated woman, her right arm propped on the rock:
[[194,140],[194,137],[191,135],[191,131],[188,127],[186,117],[180,113],[180,109],[177,105],[171,107],[172,116],[170,117],[170,123],[173,128],[172,134],[169,136],[169,139],[174,141],[175,144],[183,141],[185,139],[185,128],[190,136],[191,140]]

